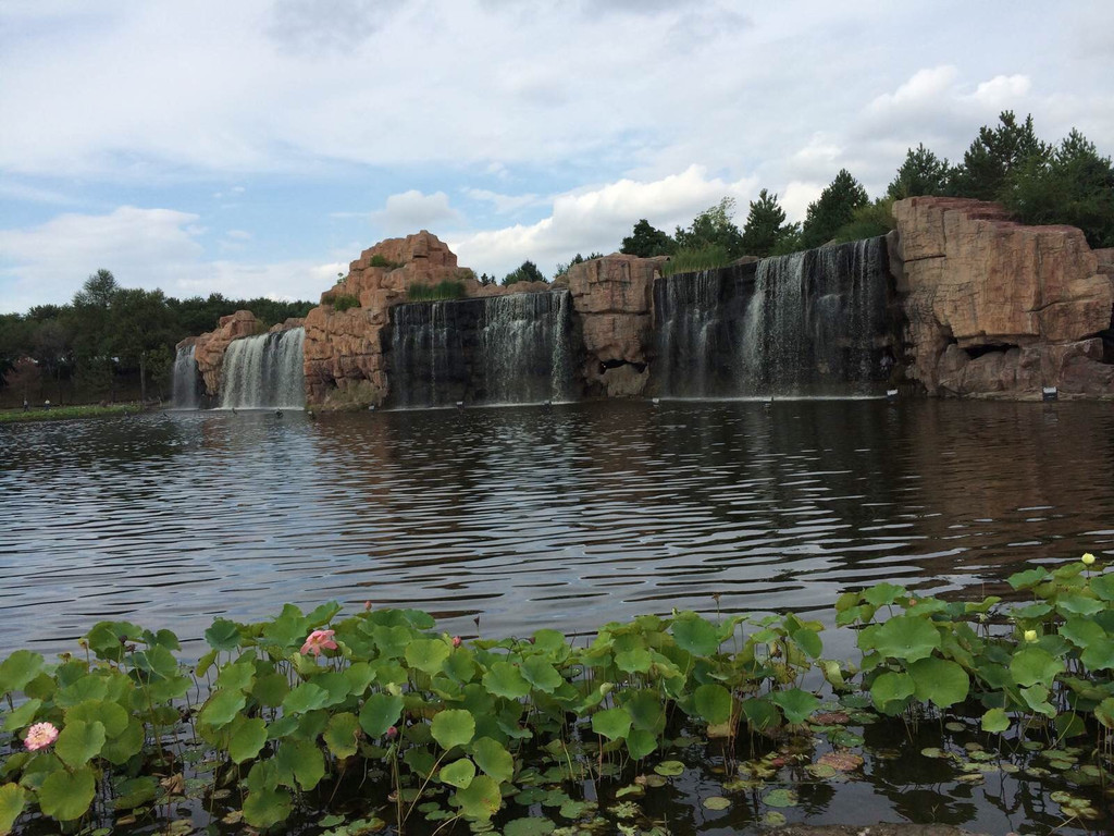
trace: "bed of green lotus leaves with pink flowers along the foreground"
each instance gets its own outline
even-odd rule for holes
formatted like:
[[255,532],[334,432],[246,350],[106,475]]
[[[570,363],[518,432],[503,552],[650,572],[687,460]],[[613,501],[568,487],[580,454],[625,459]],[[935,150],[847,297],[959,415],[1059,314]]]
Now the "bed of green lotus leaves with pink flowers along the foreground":
[[[1065,820],[1097,818],[1112,791],[1114,573],[1084,555],[1009,584],[1029,600],[848,592],[834,621],[856,630],[856,660],[825,659],[820,622],[793,614],[644,615],[574,645],[548,629],[461,641],[418,610],[286,605],[217,619],[190,667],[168,630],[100,622],[56,663],[28,650],[0,663],[0,834],[52,819],[75,834],[662,836],[637,799],[680,780],[693,741],[725,765],[703,807],[742,794],[774,824],[862,768],[852,728],[895,720],[910,739],[938,722],[921,756],[959,781],[1024,771]],[[948,747],[957,726],[977,741]],[[1042,788],[1053,778],[1071,791]],[[174,830],[182,809],[193,820]]]

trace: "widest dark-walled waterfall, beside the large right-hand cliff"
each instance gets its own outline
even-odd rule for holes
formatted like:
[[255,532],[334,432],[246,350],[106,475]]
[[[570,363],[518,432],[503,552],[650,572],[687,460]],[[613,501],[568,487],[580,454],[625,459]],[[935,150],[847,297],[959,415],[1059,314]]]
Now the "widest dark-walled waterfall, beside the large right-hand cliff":
[[892,362],[885,239],[655,282],[668,397],[868,395]]

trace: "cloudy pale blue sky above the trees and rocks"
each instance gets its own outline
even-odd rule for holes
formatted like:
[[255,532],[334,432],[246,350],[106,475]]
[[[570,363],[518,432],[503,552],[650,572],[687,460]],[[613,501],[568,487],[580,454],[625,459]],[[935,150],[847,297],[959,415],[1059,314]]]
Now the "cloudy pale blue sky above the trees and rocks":
[[312,299],[426,229],[547,275],[760,188],[802,220],[1004,109],[1114,154],[1114,3],[2,0],[0,312]]

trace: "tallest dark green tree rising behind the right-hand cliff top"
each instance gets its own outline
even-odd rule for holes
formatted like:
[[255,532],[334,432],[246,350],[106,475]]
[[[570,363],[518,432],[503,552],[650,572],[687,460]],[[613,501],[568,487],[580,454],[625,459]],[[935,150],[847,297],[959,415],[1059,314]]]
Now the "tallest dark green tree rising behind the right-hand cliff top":
[[948,189],[960,197],[997,201],[1004,196],[1009,174],[1030,157],[1047,158],[1051,148],[1033,130],[1033,116],[1017,123],[1013,110],[1003,110],[998,126],[984,125],[964,162],[952,169]]

